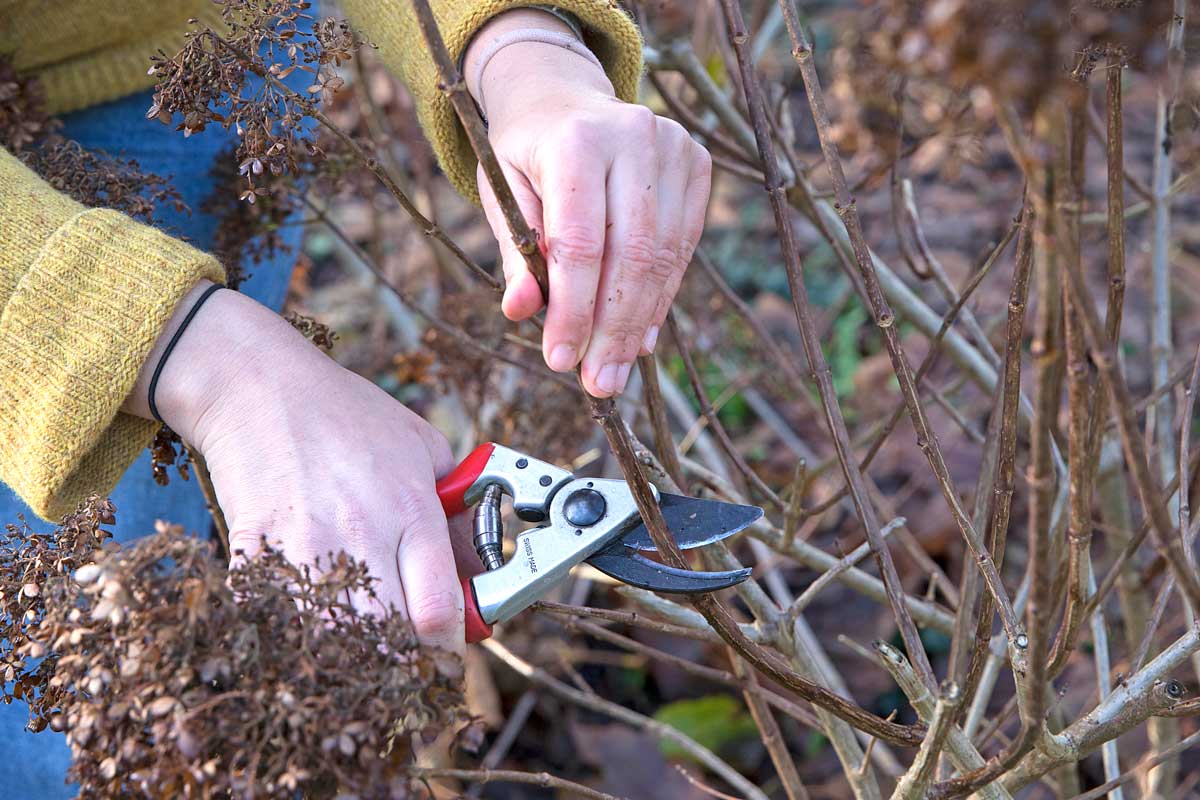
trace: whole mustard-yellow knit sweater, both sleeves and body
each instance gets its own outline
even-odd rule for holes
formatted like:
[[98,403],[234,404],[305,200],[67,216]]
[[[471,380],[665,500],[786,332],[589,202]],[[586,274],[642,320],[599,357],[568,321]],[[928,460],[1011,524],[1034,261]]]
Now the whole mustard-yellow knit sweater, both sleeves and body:
[[[500,11],[535,0],[433,0],[457,58]],[[554,0],[624,100],[641,38],[612,0]],[[408,84],[454,185],[475,196],[475,161],[407,0],[342,0],[352,23]],[[210,0],[0,0],[0,53],[41,80],[52,113],[148,88],[149,56],[174,53]],[[41,516],[109,492],[155,423],[120,411],[151,345],[187,290],[222,279],[211,255],[106,209],[85,209],[0,150],[0,480]],[[0,521],[8,522],[8,521]]]

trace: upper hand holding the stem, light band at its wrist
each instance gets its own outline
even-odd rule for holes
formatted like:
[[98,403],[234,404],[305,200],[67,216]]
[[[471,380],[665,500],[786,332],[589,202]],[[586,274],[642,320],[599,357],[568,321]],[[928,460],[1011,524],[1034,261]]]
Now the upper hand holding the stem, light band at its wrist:
[[[569,30],[523,10],[494,30]],[[584,387],[619,393],[637,355],[653,351],[667,309],[700,241],[712,160],[677,122],[613,95],[602,70],[553,44],[523,42],[499,50],[480,86],[488,138],[550,267],[542,351],[568,371],[582,359]],[[536,281],[505,225],[487,180],[480,197],[500,245],[508,288],[503,309],[526,319],[541,308]]]

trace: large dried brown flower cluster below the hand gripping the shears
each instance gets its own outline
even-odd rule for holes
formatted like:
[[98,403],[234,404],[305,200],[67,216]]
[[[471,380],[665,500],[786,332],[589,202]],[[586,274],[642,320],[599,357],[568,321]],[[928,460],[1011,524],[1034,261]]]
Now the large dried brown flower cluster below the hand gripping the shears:
[[66,732],[82,796],[403,796],[412,735],[466,722],[458,658],[349,606],[365,565],[229,571],[166,524],[101,548],[112,516],[0,542],[6,699]]

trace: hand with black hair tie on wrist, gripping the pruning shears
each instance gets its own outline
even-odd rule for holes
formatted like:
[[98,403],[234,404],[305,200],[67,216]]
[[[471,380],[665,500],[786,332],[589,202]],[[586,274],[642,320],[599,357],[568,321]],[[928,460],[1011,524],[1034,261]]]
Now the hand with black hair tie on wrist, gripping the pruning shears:
[[[144,383],[126,410],[145,411]],[[433,427],[234,291],[197,313],[156,401],[208,462],[235,559],[253,555],[264,536],[296,564],[344,551],[378,579],[378,600],[354,597],[355,607],[395,606],[424,643],[462,651],[462,590],[434,491],[454,462]],[[469,535],[456,533],[469,551]]]

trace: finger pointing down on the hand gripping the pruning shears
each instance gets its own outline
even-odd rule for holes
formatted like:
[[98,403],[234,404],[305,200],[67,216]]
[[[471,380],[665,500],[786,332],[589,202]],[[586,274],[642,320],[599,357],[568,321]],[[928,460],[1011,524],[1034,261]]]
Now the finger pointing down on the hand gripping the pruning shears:
[[395,564],[418,639],[461,654],[466,646],[462,587],[452,569],[450,533],[432,480],[427,488],[403,504]]

